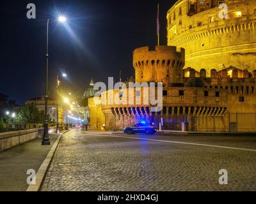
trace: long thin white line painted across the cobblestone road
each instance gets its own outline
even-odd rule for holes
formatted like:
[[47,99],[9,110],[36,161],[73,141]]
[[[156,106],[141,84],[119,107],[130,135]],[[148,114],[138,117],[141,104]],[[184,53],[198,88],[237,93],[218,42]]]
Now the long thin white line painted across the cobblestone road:
[[173,140],[155,140],[155,139],[148,139],[148,138],[134,138],[131,136],[115,136],[115,135],[97,135],[93,133],[89,133],[91,135],[96,135],[96,136],[111,136],[115,138],[129,138],[129,139],[135,139],[135,140],[148,140],[148,141],[153,141],[153,142],[167,142],[167,143],[179,143],[179,144],[184,144],[184,145],[196,145],[196,146],[203,146],[203,147],[217,147],[217,148],[223,148],[223,149],[235,149],[235,150],[244,150],[244,151],[249,151],[249,152],[256,152],[256,149],[244,149],[244,148],[239,148],[239,147],[228,147],[228,146],[220,146],[220,145],[207,145],[207,144],[202,144],[202,143],[190,143],[190,142],[176,142]]

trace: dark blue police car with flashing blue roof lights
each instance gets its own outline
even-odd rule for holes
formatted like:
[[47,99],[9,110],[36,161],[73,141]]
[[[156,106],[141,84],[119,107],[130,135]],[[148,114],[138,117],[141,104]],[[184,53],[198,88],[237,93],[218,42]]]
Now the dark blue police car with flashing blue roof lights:
[[146,133],[149,135],[156,133],[156,127],[153,124],[148,124],[147,122],[140,122],[133,127],[124,128],[124,133],[127,133],[128,135],[135,133]]

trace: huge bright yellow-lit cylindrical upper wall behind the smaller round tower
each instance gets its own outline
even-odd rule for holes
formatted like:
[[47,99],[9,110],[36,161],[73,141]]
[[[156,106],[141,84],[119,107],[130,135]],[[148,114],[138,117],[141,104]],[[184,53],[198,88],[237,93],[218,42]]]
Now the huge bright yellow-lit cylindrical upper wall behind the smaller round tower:
[[256,1],[224,2],[224,19],[218,1],[182,0],[168,11],[168,45],[185,48],[185,68],[204,68],[207,76],[212,68],[256,68]]

